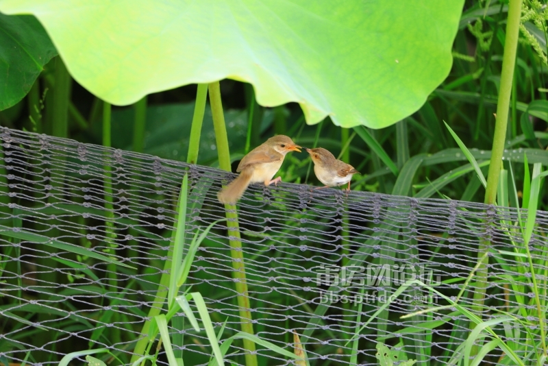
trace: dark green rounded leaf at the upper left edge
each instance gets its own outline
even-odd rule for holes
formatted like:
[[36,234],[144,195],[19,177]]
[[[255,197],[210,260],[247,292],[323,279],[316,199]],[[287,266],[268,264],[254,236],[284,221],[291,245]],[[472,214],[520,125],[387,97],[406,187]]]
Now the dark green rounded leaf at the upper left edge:
[[55,55],[55,47],[34,16],[0,14],[0,110],[23,99]]

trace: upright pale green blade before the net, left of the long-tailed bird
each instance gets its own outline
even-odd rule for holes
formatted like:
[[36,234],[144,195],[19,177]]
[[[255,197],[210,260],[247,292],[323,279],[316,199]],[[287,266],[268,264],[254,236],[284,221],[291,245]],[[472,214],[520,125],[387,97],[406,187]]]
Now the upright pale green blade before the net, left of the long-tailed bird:
[[[188,174],[184,175],[181,191],[179,191],[179,206],[177,211],[177,232],[175,232],[175,243],[173,243],[173,254],[171,256],[171,276],[169,277],[169,290],[167,296],[168,308],[173,306],[179,286],[177,286],[177,273],[181,270],[184,233],[186,228],[186,195],[188,192]],[[173,365],[175,366],[175,365]]]

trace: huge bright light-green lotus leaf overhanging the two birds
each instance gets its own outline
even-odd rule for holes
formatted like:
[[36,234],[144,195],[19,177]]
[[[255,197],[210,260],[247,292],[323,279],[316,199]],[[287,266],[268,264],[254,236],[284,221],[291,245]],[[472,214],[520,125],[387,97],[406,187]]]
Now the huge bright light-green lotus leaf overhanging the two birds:
[[91,93],[127,105],[225,77],[307,123],[391,125],[451,69],[464,0],[0,0],[34,14]]

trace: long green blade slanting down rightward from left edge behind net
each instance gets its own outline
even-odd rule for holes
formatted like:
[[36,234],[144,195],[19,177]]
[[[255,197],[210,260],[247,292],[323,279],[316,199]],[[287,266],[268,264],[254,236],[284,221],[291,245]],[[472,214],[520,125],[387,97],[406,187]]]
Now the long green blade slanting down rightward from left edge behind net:
[[81,256],[88,256],[98,260],[103,260],[103,262],[106,262],[106,263],[112,263],[114,265],[121,265],[123,267],[136,269],[135,267],[126,265],[125,263],[121,263],[118,260],[108,258],[107,256],[103,256],[102,254],[99,254],[92,250],[79,247],[78,245],[64,243],[62,241],[51,239],[48,236],[34,234],[33,232],[27,232],[25,230],[14,231],[12,228],[9,228],[8,226],[0,225],[0,235],[8,236],[10,238],[21,239],[24,241],[30,241],[33,243],[44,244],[49,247],[54,247],[57,249],[64,250],[66,252],[71,252],[74,254],[79,254]]

